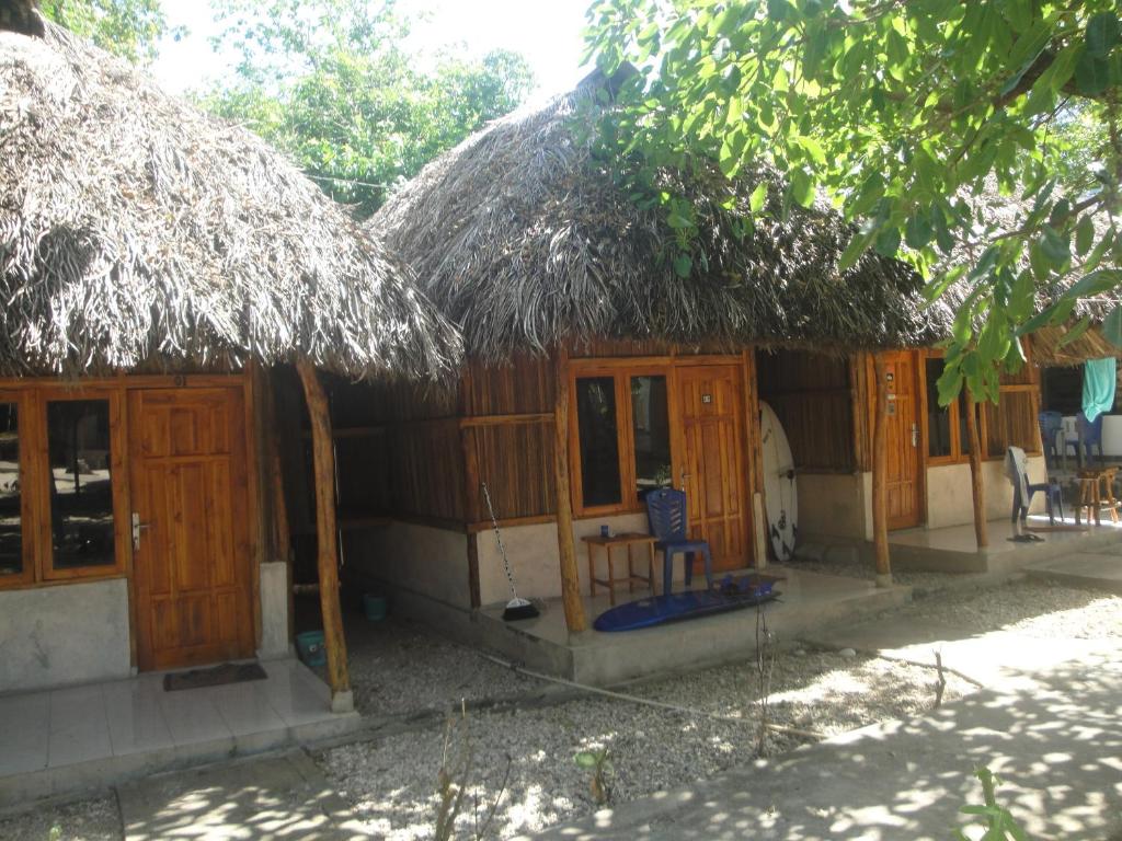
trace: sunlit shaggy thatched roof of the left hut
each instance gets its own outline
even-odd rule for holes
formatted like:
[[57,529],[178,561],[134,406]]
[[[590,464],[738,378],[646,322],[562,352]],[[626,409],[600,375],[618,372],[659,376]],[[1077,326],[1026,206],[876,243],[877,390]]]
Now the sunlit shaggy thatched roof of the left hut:
[[0,373],[305,357],[432,376],[459,339],[284,156],[53,25],[0,31]]

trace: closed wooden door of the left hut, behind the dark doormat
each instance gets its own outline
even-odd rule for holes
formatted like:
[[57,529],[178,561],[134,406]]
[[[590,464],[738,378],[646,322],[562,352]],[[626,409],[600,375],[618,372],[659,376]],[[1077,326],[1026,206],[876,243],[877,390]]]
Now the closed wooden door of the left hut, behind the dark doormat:
[[129,451],[139,667],[252,656],[241,387],[130,391]]

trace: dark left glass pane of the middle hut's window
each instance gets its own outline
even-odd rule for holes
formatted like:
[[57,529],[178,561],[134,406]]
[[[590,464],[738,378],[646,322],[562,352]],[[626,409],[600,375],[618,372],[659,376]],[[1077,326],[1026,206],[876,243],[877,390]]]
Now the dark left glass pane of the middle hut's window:
[[580,436],[581,499],[585,507],[618,505],[623,500],[616,383],[613,377],[577,379],[577,426]]

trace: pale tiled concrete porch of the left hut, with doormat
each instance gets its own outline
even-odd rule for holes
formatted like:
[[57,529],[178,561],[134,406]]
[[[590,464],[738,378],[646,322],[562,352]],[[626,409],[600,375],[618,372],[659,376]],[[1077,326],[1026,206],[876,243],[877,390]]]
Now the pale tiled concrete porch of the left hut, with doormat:
[[293,658],[268,677],[165,692],[163,673],[0,696],[0,806],[335,736],[328,686]]

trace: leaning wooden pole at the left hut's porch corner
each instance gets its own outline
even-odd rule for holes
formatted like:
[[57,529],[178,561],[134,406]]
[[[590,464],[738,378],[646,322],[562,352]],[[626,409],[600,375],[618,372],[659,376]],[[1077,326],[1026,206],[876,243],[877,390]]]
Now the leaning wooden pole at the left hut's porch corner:
[[355,709],[350,673],[347,669],[347,639],[339,604],[339,547],[335,526],[335,450],[331,434],[328,397],[307,360],[296,363],[304,386],[307,415],[312,420],[312,455],[315,465],[315,534],[319,546],[320,608],[323,611],[323,644],[328,654],[328,685],[331,686],[331,709],[350,712]]

